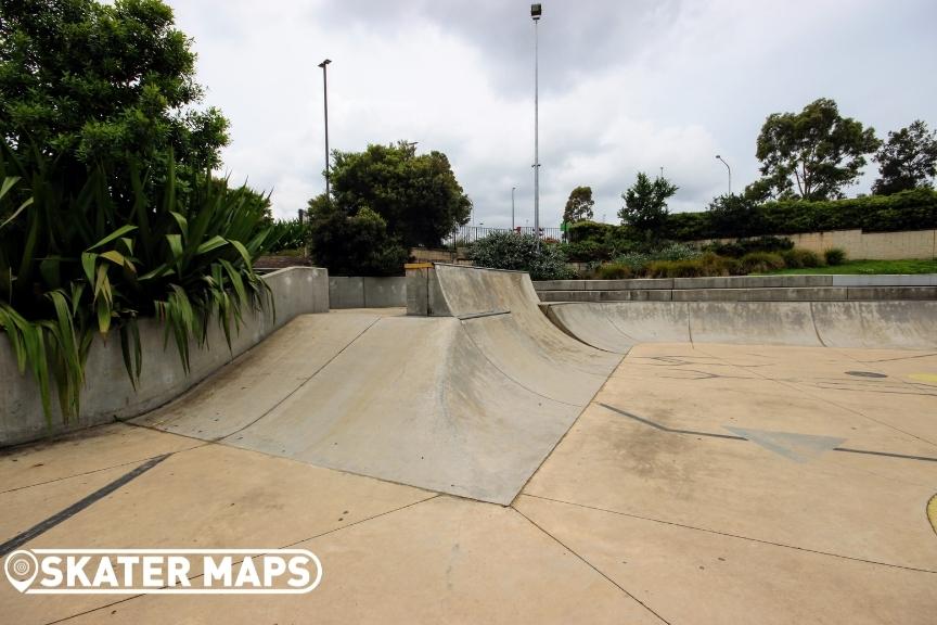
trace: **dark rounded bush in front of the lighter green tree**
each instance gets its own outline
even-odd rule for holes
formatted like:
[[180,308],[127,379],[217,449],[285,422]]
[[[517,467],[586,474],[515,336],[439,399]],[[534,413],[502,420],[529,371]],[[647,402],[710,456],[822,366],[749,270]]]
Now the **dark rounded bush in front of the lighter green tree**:
[[346,213],[324,194],[309,201],[309,246],[332,276],[399,275],[409,254],[381,215],[367,206]]

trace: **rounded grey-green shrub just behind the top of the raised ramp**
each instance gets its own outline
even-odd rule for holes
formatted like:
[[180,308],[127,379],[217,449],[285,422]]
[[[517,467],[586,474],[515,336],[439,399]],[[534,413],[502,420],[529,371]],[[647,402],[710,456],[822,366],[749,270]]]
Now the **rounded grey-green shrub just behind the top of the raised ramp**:
[[564,280],[575,272],[566,267],[560,245],[541,242],[537,237],[517,232],[493,232],[472,245],[472,260],[479,267],[527,271],[531,280]]

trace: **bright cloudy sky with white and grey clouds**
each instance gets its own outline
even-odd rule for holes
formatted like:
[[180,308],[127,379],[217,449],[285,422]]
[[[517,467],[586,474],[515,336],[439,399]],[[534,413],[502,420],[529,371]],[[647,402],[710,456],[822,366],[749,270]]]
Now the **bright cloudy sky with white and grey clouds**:
[[[194,38],[206,103],[231,120],[224,167],[292,217],[324,189],[330,143],[439,150],[475,205],[510,226],[534,212],[534,26],[521,0],[168,0]],[[548,0],[540,22],[541,225],[591,186],[617,221],[638,171],[701,211],[757,177],[765,117],[821,97],[880,137],[937,127],[934,0]],[[868,191],[875,165],[849,194]]]

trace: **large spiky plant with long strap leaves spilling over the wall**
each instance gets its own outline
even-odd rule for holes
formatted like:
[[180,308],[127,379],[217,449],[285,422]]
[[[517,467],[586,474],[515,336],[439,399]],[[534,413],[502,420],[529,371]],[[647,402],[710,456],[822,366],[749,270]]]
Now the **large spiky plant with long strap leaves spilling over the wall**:
[[188,372],[191,341],[204,344],[213,319],[230,348],[245,308],[268,303],[253,270],[270,244],[267,197],[207,174],[177,180],[170,161],[158,184],[131,167],[131,196],[115,199],[102,166],[75,186],[55,161],[30,162],[39,165],[25,170],[0,148],[0,328],[20,370],[36,378],[47,418],[53,382],[63,417],[79,413],[95,331],[119,329],[136,386],[139,318],[165,323]]

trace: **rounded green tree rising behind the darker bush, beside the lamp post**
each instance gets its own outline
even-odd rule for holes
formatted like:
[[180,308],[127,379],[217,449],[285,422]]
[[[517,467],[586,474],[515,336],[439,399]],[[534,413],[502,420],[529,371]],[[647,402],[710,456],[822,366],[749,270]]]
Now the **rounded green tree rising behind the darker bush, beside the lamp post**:
[[387,231],[409,247],[437,247],[468,221],[472,201],[441,152],[416,155],[405,141],[368,145],[364,152],[333,152],[333,202],[348,216],[368,207]]

